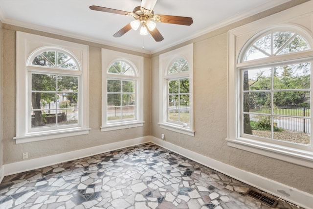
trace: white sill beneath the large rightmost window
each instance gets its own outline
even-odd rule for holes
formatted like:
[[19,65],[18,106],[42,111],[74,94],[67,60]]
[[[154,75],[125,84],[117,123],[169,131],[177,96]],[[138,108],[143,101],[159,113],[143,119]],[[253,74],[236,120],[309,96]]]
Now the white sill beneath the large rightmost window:
[[230,147],[313,168],[313,152],[252,139],[226,139]]

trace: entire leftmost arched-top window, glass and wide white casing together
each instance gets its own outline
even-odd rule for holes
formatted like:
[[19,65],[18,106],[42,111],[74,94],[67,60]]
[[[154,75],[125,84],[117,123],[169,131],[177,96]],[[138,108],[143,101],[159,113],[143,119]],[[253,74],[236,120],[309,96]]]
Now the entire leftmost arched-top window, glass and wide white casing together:
[[17,143],[89,133],[87,53],[88,46],[18,32]]

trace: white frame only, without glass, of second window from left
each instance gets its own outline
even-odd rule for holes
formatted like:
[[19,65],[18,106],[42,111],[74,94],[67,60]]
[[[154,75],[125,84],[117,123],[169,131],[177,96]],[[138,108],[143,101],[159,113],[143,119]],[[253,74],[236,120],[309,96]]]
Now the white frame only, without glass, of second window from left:
[[[130,64],[135,72],[135,76],[119,75],[114,73],[108,73],[109,67],[116,61],[124,61]],[[102,125],[100,127],[101,132],[119,130],[125,128],[134,128],[143,126],[143,57],[133,54],[113,51],[109,49],[102,48]],[[118,80],[135,80],[135,119],[133,120],[123,120],[123,121],[108,121],[107,120],[107,80],[108,79],[118,79]]]

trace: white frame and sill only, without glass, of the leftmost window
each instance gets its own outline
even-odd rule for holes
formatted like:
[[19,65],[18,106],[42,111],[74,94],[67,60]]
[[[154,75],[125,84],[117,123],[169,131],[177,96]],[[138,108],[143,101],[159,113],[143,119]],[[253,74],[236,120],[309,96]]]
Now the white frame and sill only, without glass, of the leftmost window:
[[[45,50],[60,50],[67,52],[72,56],[79,65],[79,70],[60,70],[54,68],[45,67],[27,67],[30,66],[32,58],[39,52]],[[88,102],[88,52],[89,47],[86,45],[71,43],[58,39],[52,39],[44,36],[38,36],[34,34],[24,33],[17,31],[17,61],[16,61],[16,73],[17,73],[17,96],[16,96],[16,143],[25,143],[32,141],[40,141],[47,139],[57,139],[71,136],[78,136],[89,134],[89,102]],[[30,89],[30,77],[31,72],[55,72],[57,74],[64,74],[69,76],[78,76],[79,79],[79,104],[80,104],[80,122],[75,127],[68,126],[63,128],[54,128],[50,130],[38,130],[31,131],[29,129],[29,89]],[[25,105],[26,104],[26,105]]]

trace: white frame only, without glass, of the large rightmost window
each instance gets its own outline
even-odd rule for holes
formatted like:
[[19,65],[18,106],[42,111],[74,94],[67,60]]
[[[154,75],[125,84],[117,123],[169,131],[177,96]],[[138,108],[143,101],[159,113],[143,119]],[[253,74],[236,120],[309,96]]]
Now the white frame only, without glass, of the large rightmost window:
[[[289,163],[313,168],[313,144],[308,148],[305,145],[279,141],[268,142],[258,139],[244,138],[240,135],[240,69],[248,66],[262,66],[267,63],[279,64],[280,61],[310,62],[313,60],[313,31],[308,27],[313,25],[313,2],[303,3],[286,11],[274,14],[259,21],[249,23],[228,32],[228,114],[227,114],[227,145],[249,152],[265,155]],[[240,62],[246,48],[256,41],[266,31],[293,31],[306,39],[311,46],[310,50],[285,55],[277,55],[265,59]],[[311,28],[312,29],[312,28]],[[311,71],[311,86],[313,75]],[[312,94],[312,93],[311,93]],[[311,97],[312,99],[312,97]],[[312,102],[311,102],[312,104]],[[311,116],[311,118],[313,118]],[[311,130],[312,130],[311,119]],[[274,141],[274,140],[273,140]],[[311,134],[312,141],[312,134]]]

